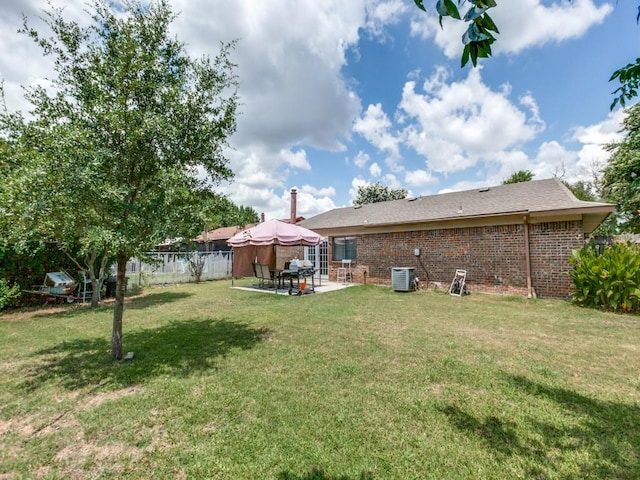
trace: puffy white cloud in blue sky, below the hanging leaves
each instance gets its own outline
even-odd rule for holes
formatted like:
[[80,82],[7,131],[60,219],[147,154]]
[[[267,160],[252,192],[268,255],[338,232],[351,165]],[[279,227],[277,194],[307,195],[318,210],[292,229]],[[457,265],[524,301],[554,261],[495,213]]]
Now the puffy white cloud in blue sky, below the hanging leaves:
[[434,172],[447,174],[494,161],[544,129],[530,95],[520,99],[523,111],[509,99],[508,86],[492,91],[480,72],[473,69],[463,81],[447,83],[438,70],[421,92],[415,81],[405,84],[399,109],[404,120],[412,122],[403,132],[406,145],[424,156]]

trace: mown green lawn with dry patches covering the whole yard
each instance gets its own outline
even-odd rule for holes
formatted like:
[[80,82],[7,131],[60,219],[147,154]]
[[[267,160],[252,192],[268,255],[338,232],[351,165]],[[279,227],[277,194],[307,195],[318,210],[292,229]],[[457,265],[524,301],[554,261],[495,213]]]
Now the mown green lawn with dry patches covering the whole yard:
[[0,317],[0,478],[640,478],[640,319],[229,281]]

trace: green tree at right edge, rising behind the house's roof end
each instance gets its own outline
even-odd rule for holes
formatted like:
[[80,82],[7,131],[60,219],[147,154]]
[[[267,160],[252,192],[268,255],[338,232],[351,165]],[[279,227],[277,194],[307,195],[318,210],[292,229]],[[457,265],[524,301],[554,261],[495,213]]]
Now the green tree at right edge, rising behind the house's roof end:
[[640,233],[640,104],[626,110],[624,137],[607,145],[612,152],[604,169],[603,197],[615,203],[621,232]]

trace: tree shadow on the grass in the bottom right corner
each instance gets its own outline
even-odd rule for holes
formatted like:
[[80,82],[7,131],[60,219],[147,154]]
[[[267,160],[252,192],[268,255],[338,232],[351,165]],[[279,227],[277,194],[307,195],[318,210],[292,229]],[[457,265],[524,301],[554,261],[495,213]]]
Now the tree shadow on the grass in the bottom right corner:
[[[530,465],[530,478],[640,478],[640,408],[595,400],[521,375],[507,375],[507,382],[530,397],[523,402],[536,405],[541,400],[551,401],[561,410],[560,416],[525,417],[522,421],[527,425],[520,430],[533,434],[522,438],[515,422],[496,417],[478,419],[451,405],[441,411],[452,425],[481,439],[498,456],[529,460],[525,463]],[[570,454],[572,458],[567,459]],[[567,476],[569,466],[579,472]]]

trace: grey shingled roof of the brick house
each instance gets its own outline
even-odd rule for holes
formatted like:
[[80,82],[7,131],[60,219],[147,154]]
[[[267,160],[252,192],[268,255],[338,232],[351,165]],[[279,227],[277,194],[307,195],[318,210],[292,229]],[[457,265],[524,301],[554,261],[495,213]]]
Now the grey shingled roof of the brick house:
[[[558,179],[534,180],[497,187],[336,208],[301,225],[327,234],[386,227],[407,230],[413,224],[451,222],[498,216],[581,216],[585,232],[593,231],[615,205],[578,200]],[[393,228],[395,227],[395,228]],[[402,228],[404,227],[404,228]]]

